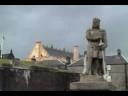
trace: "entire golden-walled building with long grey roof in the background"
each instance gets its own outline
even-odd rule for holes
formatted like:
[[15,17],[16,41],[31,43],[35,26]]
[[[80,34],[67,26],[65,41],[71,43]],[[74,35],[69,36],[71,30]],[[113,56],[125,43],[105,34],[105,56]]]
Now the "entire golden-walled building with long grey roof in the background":
[[74,46],[73,52],[67,52],[65,48],[61,50],[61,49],[53,48],[53,46],[47,47],[43,45],[41,41],[37,41],[32,51],[26,58],[26,61],[32,61],[33,59],[35,59],[36,61],[59,60],[63,63],[66,63],[67,62],[66,59],[67,57],[69,57],[71,63],[73,63],[79,60],[80,56],[81,55],[79,53],[79,46],[77,45]]

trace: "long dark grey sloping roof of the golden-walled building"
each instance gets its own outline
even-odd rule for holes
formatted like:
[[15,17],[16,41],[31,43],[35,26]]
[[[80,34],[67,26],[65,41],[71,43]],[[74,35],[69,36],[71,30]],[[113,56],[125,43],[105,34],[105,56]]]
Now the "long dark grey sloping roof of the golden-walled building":
[[72,57],[73,54],[70,52],[66,52],[64,50],[58,50],[58,49],[54,49],[54,48],[49,48],[44,46],[44,48],[46,49],[46,51],[49,53],[49,55],[51,56],[59,56],[59,57],[66,57],[66,56],[70,56]]

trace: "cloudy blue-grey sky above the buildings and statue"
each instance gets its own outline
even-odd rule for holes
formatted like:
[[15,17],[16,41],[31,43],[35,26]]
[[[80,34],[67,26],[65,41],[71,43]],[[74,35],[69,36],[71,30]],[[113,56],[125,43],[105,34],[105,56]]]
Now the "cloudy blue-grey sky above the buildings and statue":
[[127,5],[0,5],[4,53],[13,49],[16,57],[24,59],[37,40],[67,51],[79,45],[83,53],[87,45],[85,32],[93,17],[99,17],[101,27],[107,31],[107,55],[116,54],[120,48],[128,57]]

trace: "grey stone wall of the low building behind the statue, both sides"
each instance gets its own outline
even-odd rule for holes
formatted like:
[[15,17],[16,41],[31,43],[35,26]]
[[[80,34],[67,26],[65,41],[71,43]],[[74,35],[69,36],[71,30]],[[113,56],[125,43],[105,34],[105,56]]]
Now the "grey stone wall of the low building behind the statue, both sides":
[[[116,86],[117,90],[125,90],[126,88],[126,76],[125,76],[125,65],[124,64],[111,64],[112,84]],[[70,66],[69,70],[76,73],[83,71],[83,66]],[[127,85],[128,85],[128,65],[127,65]]]

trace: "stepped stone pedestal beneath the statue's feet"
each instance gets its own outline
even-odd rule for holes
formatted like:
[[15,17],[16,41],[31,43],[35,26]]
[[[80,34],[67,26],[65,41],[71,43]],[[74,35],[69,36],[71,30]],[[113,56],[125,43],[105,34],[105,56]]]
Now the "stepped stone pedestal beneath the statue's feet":
[[81,75],[79,82],[72,82],[70,90],[114,90],[111,83],[95,75]]

